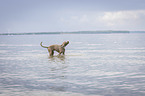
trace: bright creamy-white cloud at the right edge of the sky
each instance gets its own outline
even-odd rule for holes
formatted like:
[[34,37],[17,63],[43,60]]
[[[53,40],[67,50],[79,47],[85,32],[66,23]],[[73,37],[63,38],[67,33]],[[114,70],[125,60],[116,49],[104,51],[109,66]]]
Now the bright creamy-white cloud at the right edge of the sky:
[[145,10],[104,12],[101,20],[106,26],[113,29],[145,30],[143,28],[145,26]]

